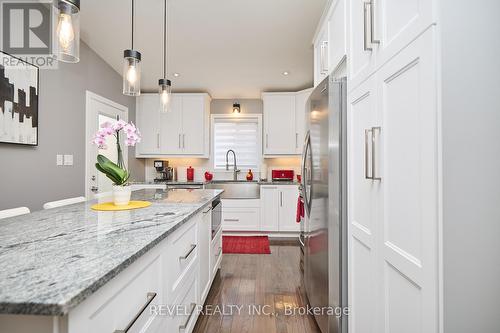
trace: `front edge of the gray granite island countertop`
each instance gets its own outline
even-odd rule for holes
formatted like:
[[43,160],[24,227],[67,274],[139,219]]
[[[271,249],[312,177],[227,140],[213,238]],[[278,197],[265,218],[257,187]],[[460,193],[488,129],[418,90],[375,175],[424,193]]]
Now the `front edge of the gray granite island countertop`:
[[169,230],[165,231],[159,237],[152,240],[148,245],[144,246],[142,249],[134,253],[128,259],[123,261],[120,265],[116,266],[114,269],[110,270],[107,274],[100,277],[93,284],[82,290],[79,294],[73,296],[67,303],[33,303],[33,302],[23,302],[23,303],[12,303],[12,302],[0,302],[0,315],[40,315],[40,316],[64,316],[67,315],[72,309],[81,304],[87,298],[92,296],[97,290],[104,286],[107,282],[117,276],[119,273],[124,271],[127,267],[132,265],[140,257],[142,257],[146,252],[151,250],[153,247],[158,245],[164,239],[166,239],[170,234],[175,232],[179,227],[188,222],[194,215],[203,210],[212,201],[220,198],[223,191],[212,197],[209,201],[202,204],[199,208],[193,210],[189,215],[186,215],[181,221],[173,225]]

